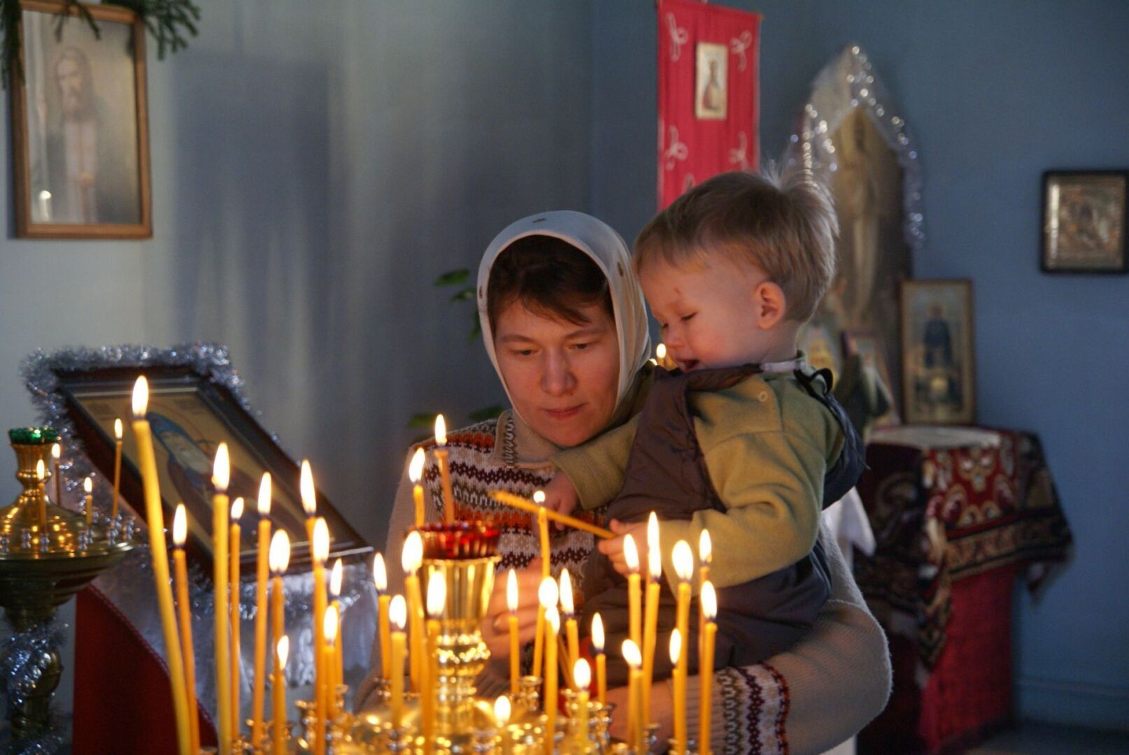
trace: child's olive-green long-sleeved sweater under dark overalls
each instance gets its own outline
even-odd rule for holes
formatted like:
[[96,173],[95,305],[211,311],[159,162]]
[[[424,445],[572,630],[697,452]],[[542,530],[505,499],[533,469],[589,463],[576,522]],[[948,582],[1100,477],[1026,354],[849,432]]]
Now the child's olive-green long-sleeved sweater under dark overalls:
[[[714,545],[710,580],[729,587],[788,567],[820,532],[823,477],[842,449],[834,416],[791,372],[764,372],[717,392],[691,392],[691,415],[710,481],[725,511],[695,511],[659,523],[663,571],[676,582],[671,554],[680,539],[695,547],[703,528]],[[623,485],[638,418],[553,456],[580,506],[609,503]],[[697,590],[697,580],[693,582]]]

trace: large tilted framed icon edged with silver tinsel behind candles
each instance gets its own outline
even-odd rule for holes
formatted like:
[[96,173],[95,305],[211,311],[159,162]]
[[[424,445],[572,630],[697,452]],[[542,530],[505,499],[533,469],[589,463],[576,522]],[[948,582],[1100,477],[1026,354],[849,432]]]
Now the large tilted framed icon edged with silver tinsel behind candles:
[[[210,464],[219,442],[226,441],[231,458],[228,494],[245,499],[242,563],[254,572],[257,553],[256,498],[262,472],[272,479],[270,518],[290,536],[290,569],[308,567],[310,547],[298,490],[299,465],[224,385],[187,366],[105,367],[54,369],[54,398],[65,420],[85,447],[86,455],[103,477],[113,479],[114,419],[125,425],[122,454],[121,493],[124,501],[143,516],[141,476],[137,447],[130,429],[130,400],[139,375],[149,381],[147,416],[152,428],[154,450],[160,477],[165,521],[173,520],[175,506],[184,501],[189,513],[190,556],[211,563],[211,473]],[[325,518],[331,537],[331,559],[355,561],[373,548],[317,492],[317,513]]]

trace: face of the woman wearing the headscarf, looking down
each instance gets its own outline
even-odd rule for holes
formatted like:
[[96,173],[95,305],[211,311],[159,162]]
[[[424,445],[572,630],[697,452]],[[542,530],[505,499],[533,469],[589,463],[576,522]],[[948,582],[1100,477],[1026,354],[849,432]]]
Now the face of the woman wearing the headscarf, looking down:
[[579,308],[583,325],[539,315],[515,301],[498,315],[495,351],[514,409],[543,438],[577,446],[615,411],[620,348],[612,316]]

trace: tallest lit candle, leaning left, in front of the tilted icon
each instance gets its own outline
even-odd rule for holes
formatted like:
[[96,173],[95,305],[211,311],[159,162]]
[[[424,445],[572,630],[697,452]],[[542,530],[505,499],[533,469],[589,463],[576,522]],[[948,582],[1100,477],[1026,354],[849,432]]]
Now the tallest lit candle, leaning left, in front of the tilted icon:
[[[138,442],[138,463],[141,466],[146,519],[149,525],[152,579],[157,589],[157,606],[160,611],[160,624],[165,635],[165,657],[168,660],[169,688],[173,692],[173,708],[176,714],[176,741],[181,755],[189,755],[192,753],[189,697],[184,681],[181,640],[176,631],[176,617],[173,614],[173,590],[168,583],[168,548],[165,544],[165,516],[160,508],[160,479],[157,476],[157,457],[152,451],[152,430],[149,428],[149,421],[145,419],[146,409],[149,405],[149,383],[145,376],[139,377],[133,386],[132,403],[133,434]],[[42,473],[42,468],[40,472]]]

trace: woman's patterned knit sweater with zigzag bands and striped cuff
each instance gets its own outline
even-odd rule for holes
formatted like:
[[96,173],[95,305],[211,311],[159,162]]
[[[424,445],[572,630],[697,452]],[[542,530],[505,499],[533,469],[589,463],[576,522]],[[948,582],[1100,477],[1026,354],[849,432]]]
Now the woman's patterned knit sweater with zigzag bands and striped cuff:
[[[549,458],[559,449],[508,411],[496,420],[449,432],[447,446],[456,518],[498,523],[502,528],[501,568],[527,565],[540,554],[535,523],[522,511],[496,503],[489,492],[506,490],[532,497],[552,479]],[[434,520],[441,517],[441,491],[434,456],[429,454],[428,459],[423,475],[426,510],[427,518]],[[385,548],[388,589],[393,594],[403,591],[400,551],[413,519],[405,465]],[[579,573],[594,547],[593,536],[572,529],[551,530],[551,535],[553,574],[559,576],[564,568]],[[885,637],[866,609],[834,539],[825,532],[821,536],[828,547],[834,589],[808,637],[765,664],[715,673],[710,729],[718,750],[822,753],[850,738],[885,706],[890,694]],[[371,679],[379,674],[379,648],[375,643],[373,659],[370,677],[357,692],[358,709],[365,706]],[[525,660],[528,662],[528,658]],[[483,696],[507,690],[508,679],[497,673],[488,671],[479,679],[479,694]],[[697,738],[698,730],[698,691],[697,677],[689,679],[686,719],[692,738]]]

